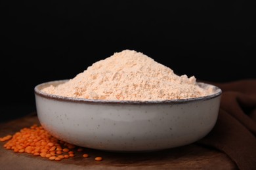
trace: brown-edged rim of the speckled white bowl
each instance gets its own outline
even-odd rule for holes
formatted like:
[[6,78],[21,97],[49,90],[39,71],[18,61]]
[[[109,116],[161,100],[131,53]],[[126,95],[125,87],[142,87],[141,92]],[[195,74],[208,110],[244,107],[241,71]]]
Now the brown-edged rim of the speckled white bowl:
[[207,84],[204,82],[196,82],[196,83],[198,84],[198,86],[202,88],[204,86],[212,86],[214,88],[215,93],[211,95],[205,95],[202,97],[193,97],[193,98],[187,98],[187,99],[171,99],[171,100],[131,101],[131,100],[85,99],[85,98],[78,98],[78,97],[66,97],[62,95],[55,95],[55,94],[45,93],[41,91],[43,87],[49,86],[51,84],[57,85],[67,81],[68,80],[54,80],[54,81],[37,84],[37,86],[35,86],[34,88],[34,93],[35,95],[39,95],[41,97],[44,97],[47,99],[53,99],[57,101],[66,101],[66,102],[74,102],[74,103],[90,103],[90,104],[129,104],[129,105],[182,104],[182,103],[189,103],[193,101],[205,101],[205,100],[213,99],[215,97],[219,97],[222,94],[221,88],[213,84]]

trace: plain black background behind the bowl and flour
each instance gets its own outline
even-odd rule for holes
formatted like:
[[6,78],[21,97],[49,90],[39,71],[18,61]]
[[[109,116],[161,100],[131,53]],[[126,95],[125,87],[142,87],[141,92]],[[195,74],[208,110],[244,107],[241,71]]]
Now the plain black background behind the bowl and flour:
[[35,110],[37,84],[125,49],[198,80],[256,78],[253,1],[5,0],[0,10],[1,121]]

